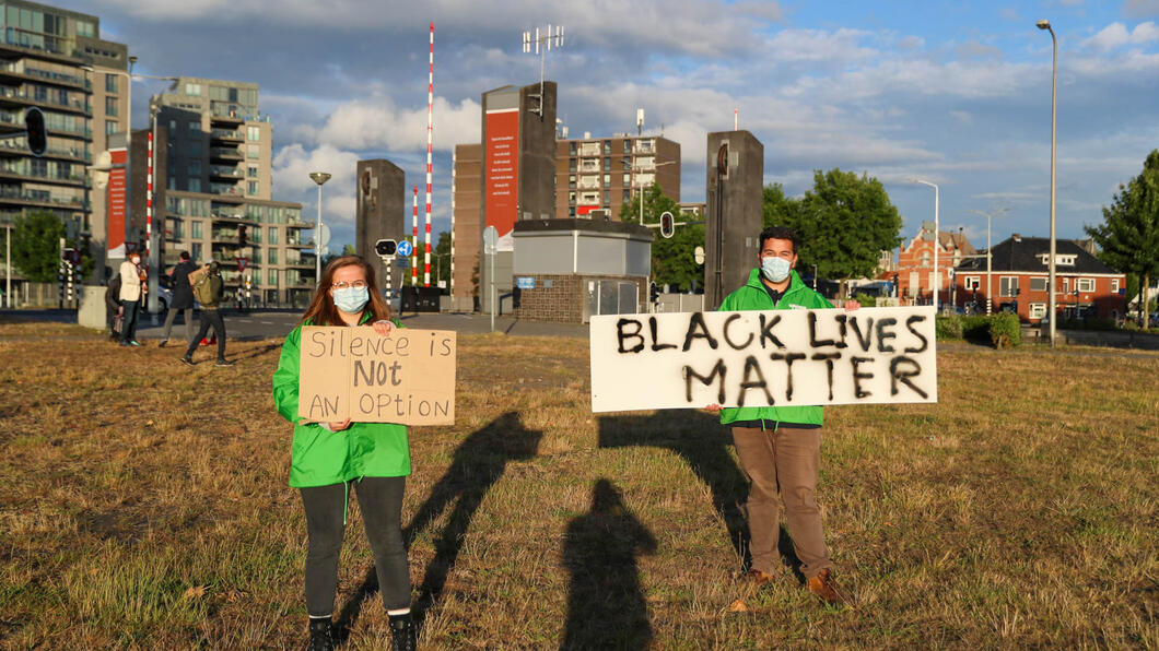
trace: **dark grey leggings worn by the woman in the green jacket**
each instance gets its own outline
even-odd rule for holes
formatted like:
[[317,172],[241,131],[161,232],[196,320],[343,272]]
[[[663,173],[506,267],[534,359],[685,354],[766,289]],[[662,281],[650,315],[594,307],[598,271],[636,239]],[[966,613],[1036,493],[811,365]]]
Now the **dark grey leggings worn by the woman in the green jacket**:
[[[402,490],[406,477],[363,477],[350,482],[358,493],[363,527],[374,554],[382,607],[388,610],[410,607],[410,568],[402,544]],[[334,613],[338,587],[338,551],[345,529],[347,487],[330,484],[299,489],[306,507],[306,610],[312,617]]]

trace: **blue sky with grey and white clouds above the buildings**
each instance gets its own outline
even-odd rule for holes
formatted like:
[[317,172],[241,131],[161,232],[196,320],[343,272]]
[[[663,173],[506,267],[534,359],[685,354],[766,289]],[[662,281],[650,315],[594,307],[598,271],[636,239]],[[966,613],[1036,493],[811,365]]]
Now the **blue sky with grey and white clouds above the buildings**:
[[[933,218],[985,246],[1049,234],[1051,39],[1058,35],[1058,235],[1083,236],[1159,147],[1159,0],[59,0],[95,14],[136,71],[256,82],[274,120],[274,196],[353,241],[355,163],[386,158],[424,183],[427,42],[435,22],[436,233],[450,228],[451,151],[478,142],[480,95],[539,80],[524,30],[566,27],[547,58],[571,137],[635,130],[680,142],[680,199],[704,200],[706,133],[765,146],[765,182],[790,195],[814,169],[881,180],[911,237]],[[162,83],[163,86],[163,83]],[[134,126],[146,124],[138,82]],[[422,197],[420,197],[422,202]],[[410,198],[407,198],[409,206]],[[420,206],[420,213],[422,213]],[[409,214],[409,209],[408,209]],[[420,215],[420,219],[422,217]],[[409,231],[409,218],[407,220]]]

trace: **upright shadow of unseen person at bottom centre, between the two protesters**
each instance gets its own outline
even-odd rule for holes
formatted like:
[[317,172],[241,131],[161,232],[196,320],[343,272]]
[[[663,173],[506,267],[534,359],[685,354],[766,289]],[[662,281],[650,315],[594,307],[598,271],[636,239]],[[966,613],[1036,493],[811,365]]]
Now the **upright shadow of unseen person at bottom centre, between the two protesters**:
[[571,575],[562,650],[647,649],[653,638],[636,556],[656,537],[608,480],[596,482],[591,511],[568,522],[563,566]]

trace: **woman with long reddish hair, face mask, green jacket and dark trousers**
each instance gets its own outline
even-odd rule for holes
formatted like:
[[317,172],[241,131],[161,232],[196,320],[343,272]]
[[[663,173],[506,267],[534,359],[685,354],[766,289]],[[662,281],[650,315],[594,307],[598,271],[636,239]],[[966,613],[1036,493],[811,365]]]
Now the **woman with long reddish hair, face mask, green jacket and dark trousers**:
[[402,541],[401,513],[410,474],[407,427],[393,423],[313,423],[298,416],[302,326],[372,327],[389,336],[391,308],[378,291],[374,269],[358,256],[326,265],[301,322],[282,345],[274,372],[274,403],[294,424],[290,485],[306,510],[306,608],[311,649],[333,649],[331,616],[338,583],[338,553],[350,488],[358,495],[382,606],[391,620],[394,649],[415,649],[410,617],[410,569]]

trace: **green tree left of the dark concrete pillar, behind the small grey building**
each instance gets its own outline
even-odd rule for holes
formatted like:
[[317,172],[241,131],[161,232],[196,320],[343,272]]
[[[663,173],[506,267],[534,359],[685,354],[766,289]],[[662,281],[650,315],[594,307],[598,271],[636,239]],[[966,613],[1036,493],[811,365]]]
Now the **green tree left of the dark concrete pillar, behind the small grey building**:
[[[640,222],[640,196],[644,198],[644,224],[659,224],[659,215],[671,212],[676,221],[680,219],[680,206],[671,197],[664,195],[659,185],[653,183],[644,191],[636,192],[632,202],[620,206],[620,220],[632,224]],[[680,291],[691,291],[692,283],[702,281],[704,266],[697,264],[694,253],[697,247],[705,244],[704,225],[677,226],[671,237],[662,237],[659,228],[655,228],[656,241],[651,247],[651,276],[658,285],[672,285]]]

